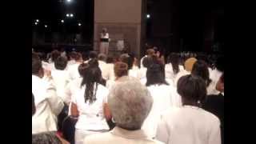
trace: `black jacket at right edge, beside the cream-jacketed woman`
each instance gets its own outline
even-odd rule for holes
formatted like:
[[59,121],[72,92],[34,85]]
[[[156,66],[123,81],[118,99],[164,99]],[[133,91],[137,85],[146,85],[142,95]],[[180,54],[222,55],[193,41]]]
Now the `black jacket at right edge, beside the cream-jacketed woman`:
[[219,118],[221,122],[222,144],[224,144],[224,96],[222,94],[208,95],[206,102],[202,104],[202,108]]

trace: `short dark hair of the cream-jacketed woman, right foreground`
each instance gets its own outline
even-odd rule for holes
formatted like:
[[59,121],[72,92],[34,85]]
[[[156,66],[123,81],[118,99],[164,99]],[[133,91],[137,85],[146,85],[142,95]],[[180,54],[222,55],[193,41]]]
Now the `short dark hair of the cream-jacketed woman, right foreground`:
[[183,106],[201,106],[206,99],[206,82],[196,75],[188,74],[179,78],[177,90]]

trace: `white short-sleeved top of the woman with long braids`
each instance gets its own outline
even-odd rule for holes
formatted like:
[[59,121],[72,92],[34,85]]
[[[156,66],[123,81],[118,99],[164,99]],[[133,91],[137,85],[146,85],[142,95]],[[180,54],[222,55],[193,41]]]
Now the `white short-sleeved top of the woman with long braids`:
[[[95,86],[96,84],[94,88]],[[79,111],[78,122],[75,128],[78,130],[109,130],[103,114],[103,103],[106,101],[109,90],[105,86],[98,84],[98,90],[96,92],[97,99],[91,104],[89,101],[85,102],[85,90],[86,86],[82,86],[74,94],[74,99],[72,100],[77,105]]]

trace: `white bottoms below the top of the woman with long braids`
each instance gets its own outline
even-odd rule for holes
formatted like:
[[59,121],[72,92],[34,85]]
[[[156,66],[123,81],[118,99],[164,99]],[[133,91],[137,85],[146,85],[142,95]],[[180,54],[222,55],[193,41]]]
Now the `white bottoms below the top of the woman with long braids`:
[[84,139],[86,138],[86,136],[90,135],[90,134],[98,134],[98,133],[103,133],[103,132],[107,132],[108,130],[79,130],[79,129],[75,129],[75,133],[74,133],[74,143],[75,144],[83,144]]

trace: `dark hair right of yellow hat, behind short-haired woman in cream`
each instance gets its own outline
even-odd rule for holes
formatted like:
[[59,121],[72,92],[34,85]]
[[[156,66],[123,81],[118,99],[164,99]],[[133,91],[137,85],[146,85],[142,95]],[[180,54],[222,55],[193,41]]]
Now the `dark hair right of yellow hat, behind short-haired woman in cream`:
[[206,62],[202,60],[198,60],[197,62],[195,62],[191,74],[197,75],[204,79],[206,82],[206,86],[210,85],[211,79]]

